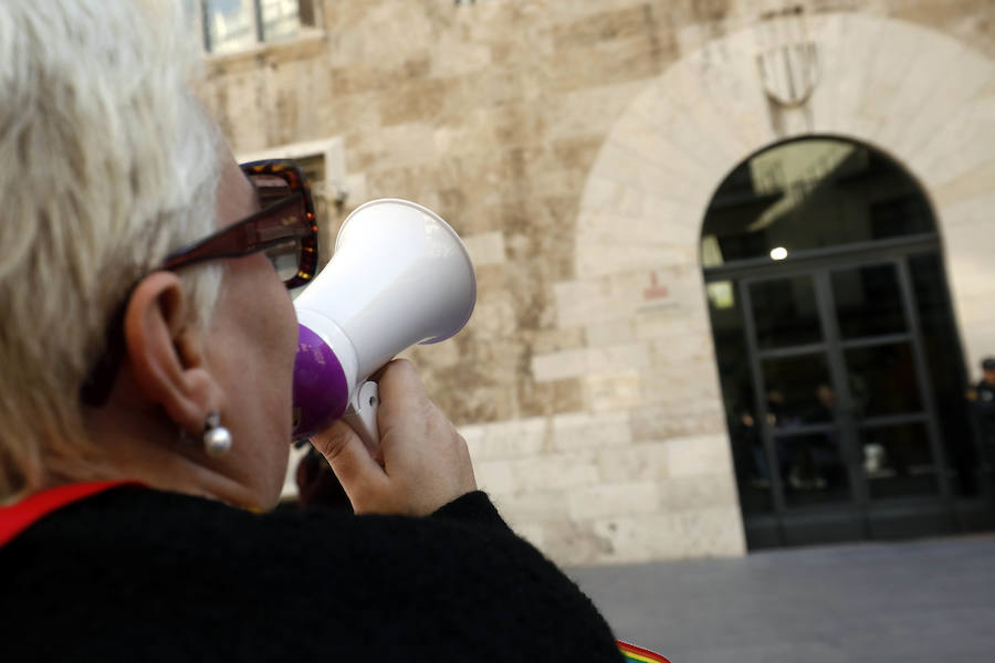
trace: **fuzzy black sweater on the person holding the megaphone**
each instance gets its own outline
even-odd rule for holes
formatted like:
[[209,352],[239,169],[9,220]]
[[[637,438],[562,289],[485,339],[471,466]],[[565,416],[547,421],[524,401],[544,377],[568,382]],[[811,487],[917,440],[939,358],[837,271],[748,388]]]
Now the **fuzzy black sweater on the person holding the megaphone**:
[[0,548],[3,661],[615,661],[483,493],[425,518],[118,487]]

